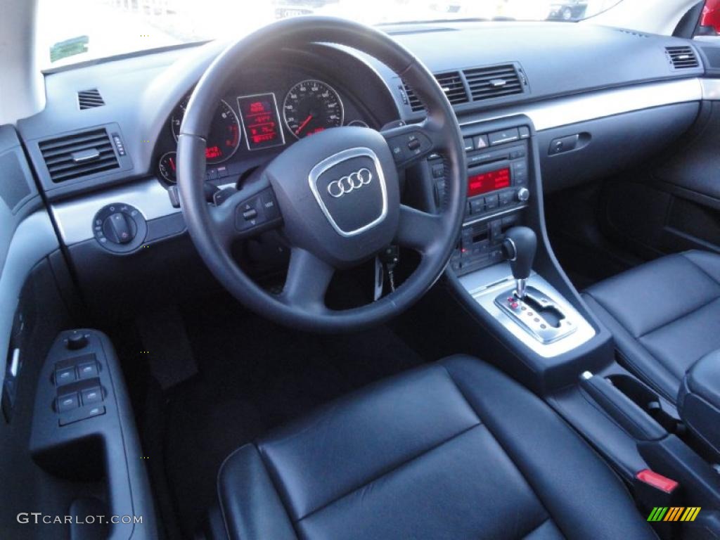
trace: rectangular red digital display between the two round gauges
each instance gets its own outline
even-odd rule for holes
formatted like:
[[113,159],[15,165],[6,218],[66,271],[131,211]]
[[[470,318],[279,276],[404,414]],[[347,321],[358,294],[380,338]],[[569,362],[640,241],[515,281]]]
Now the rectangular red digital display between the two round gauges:
[[248,150],[261,150],[285,144],[275,94],[240,96],[238,108]]

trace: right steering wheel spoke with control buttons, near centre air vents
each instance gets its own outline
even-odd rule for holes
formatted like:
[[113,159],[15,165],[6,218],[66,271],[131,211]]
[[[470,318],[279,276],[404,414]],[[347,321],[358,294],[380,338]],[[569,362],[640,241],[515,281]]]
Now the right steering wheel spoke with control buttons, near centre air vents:
[[387,140],[398,169],[420,163],[431,153],[444,149],[446,145],[440,128],[430,119],[423,120],[420,124],[392,127],[380,134]]

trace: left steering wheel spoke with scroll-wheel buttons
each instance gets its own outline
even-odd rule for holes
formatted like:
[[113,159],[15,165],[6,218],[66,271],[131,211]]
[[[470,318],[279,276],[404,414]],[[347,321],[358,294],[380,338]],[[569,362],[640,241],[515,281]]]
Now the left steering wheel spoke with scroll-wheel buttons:
[[267,183],[230,195],[210,207],[210,216],[224,246],[282,225],[277,199]]

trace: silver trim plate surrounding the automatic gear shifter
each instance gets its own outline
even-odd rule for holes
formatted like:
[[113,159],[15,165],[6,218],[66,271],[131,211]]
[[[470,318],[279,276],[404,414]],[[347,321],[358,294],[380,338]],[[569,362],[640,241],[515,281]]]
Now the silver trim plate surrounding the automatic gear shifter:
[[595,336],[595,329],[580,315],[575,307],[570,305],[555,287],[546,282],[542,276],[532,272],[528,278],[528,286],[539,289],[547,297],[551,297],[558,309],[565,316],[575,321],[576,330],[558,341],[541,343],[530,335],[521,325],[511,319],[500,307],[495,305],[495,297],[503,290],[512,291],[515,288],[515,279],[506,262],[495,264],[488,268],[472,272],[459,278],[464,289],[472,296],[483,310],[498,321],[514,338],[544,358],[552,358],[567,353],[590,341]]

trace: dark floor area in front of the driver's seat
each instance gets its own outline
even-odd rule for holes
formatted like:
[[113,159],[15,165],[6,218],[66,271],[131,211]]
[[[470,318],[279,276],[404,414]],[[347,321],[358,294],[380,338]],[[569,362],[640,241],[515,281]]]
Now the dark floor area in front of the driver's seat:
[[386,327],[317,336],[222,301],[183,313],[198,374],[166,393],[163,459],[186,537],[215,503],[217,470],[230,452],[328,400],[428,361]]

